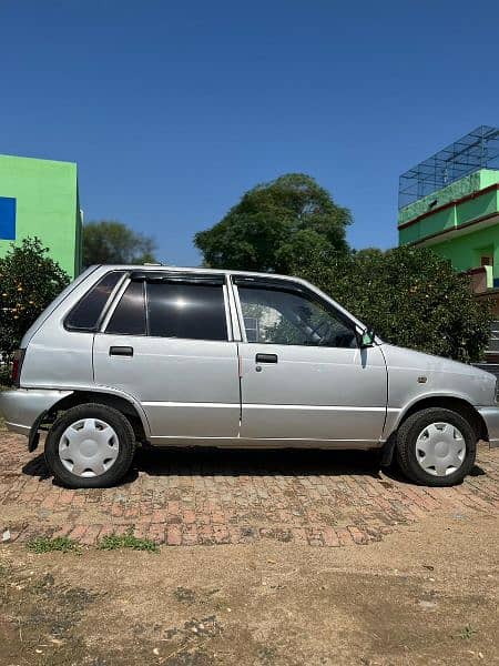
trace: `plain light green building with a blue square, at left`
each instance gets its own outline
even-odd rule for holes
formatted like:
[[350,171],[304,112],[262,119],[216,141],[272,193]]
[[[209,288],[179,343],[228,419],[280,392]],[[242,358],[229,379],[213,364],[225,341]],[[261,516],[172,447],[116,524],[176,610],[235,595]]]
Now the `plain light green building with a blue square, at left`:
[[27,236],[38,236],[71,278],[81,272],[77,164],[0,155],[0,256]]

